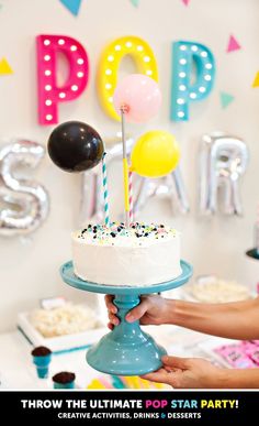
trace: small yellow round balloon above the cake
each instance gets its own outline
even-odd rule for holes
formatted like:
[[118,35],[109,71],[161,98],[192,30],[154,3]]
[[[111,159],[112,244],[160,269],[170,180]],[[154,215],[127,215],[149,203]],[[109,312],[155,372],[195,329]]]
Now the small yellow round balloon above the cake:
[[176,138],[161,130],[143,134],[133,148],[131,170],[145,177],[161,177],[172,172],[180,160]]

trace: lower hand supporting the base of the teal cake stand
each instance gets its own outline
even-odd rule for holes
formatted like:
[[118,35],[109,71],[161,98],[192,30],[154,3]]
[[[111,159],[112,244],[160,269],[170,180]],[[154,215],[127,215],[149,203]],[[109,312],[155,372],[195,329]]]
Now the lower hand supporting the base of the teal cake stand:
[[162,368],[142,375],[151,382],[167,383],[176,389],[227,387],[226,369],[213,365],[201,358],[178,358],[165,356]]

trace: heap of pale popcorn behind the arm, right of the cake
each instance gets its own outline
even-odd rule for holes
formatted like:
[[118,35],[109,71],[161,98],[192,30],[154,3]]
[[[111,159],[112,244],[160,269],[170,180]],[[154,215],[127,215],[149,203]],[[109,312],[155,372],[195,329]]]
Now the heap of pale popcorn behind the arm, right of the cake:
[[196,277],[194,283],[182,288],[182,295],[185,299],[201,303],[228,303],[252,297],[248,286],[215,275]]

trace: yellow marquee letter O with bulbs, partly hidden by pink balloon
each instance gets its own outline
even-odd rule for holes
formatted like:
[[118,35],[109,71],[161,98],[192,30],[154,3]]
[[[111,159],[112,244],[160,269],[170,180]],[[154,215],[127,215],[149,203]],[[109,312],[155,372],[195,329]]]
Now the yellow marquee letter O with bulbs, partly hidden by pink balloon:
[[157,61],[151,47],[144,40],[128,35],[116,39],[102,53],[98,67],[98,92],[105,112],[114,120],[120,120],[113,106],[113,94],[117,75],[124,56],[130,55],[136,64],[137,73],[158,80]]

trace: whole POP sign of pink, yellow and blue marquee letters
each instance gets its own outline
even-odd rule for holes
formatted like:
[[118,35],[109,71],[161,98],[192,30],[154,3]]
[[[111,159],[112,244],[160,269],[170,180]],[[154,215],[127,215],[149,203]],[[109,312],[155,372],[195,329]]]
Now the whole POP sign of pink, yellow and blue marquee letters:
[[[58,123],[59,102],[77,99],[87,88],[89,59],[85,47],[67,35],[38,35],[37,39],[38,121]],[[65,55],[68,77],[57,84],[57,62]],[[158,80],[156,56],[143,39],[123,36],[109,44],[98,65],[98,95],[100,102],[114,120],[120,120],[113,94],[123,57],[130,55],[139,74]],[[193,76],[194,75],[194,76]],[[215,59],[209,47],[201,43],[179,41],[172,44],[171,113],[174,121],[188,121],[190,103],[201,101],[212,91],[215,79]]]

